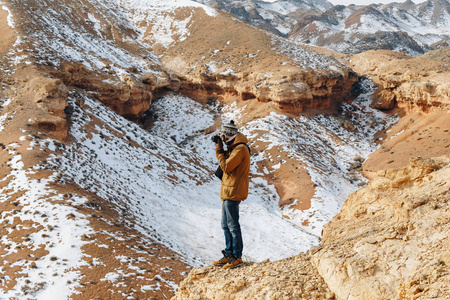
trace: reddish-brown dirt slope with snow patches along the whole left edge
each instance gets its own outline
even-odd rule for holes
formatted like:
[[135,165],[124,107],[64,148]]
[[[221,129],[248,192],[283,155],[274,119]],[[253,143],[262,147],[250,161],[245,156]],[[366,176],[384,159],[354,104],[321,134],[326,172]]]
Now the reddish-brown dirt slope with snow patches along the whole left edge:
[[71,140],[74,87],[48,61],[35,64],[42,57],[29,55],[37,52],[29,36],[11,27],[20,24],[17,9],[0,10],[0,298],[170,297],[190,268],[182,258],[129,226],[115,205],[62,183],[49,165]]

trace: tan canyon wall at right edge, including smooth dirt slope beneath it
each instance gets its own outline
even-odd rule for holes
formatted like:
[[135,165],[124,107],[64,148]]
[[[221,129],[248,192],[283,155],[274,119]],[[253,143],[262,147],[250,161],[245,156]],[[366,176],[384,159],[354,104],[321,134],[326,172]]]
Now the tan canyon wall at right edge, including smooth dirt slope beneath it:
[[450,66],[445,55],[436,58],[387,50],[349,58],[349,66],[376,85],[372,106],[400,117],[378,134],[380,148],[364,162],[365,176],[374,178],[379,170],[406,166],[414,156],[450,154]]

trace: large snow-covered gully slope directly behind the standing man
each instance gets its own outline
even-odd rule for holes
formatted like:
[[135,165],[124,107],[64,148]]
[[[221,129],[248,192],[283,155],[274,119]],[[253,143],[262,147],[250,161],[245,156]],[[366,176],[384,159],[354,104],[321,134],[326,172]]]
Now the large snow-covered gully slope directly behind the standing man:
[[[192,264],[220,254],[214,145],[210,135],[198,135],[212,125],[212,112],[186,97],[167,96],[159,100],[161,108],[155,107],[161,121],[148,133],[92,99],[85,103],[84,110],[75,106],[71,134],[76,141],[53,160],[62,178],[114,203],[130,225]],[[90,127],[95,130],[86,132]],[[252,180],[251,190],[241,207],[247,259],[288,257],[318,243],[281,218],[276,193],[264,180]]]

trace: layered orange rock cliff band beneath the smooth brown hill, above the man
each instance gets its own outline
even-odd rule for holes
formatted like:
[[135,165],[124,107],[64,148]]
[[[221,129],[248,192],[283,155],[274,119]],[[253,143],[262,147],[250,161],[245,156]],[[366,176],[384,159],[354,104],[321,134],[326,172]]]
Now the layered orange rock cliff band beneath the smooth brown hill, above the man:
[[[305,108],[324,109],[332,103],[350,100],[350,89],[357,80],[355,73],[316,74],[315,71],[300,71],[283,76],[265,78],[264,73],[240,73],[236,76],[213,74],[181,78],[180,91],[198,100],[214,96],[237,95],[241,100],[257,99],[273,102],[278,110],[299,113]],[[198,82],[195,84],[194,82]]]

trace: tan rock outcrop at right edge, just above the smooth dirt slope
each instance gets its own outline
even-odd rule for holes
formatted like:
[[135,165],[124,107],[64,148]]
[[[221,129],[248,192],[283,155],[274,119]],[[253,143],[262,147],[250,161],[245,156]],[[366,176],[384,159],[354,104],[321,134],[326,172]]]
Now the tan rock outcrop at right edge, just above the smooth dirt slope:
[[378,85],[375,108],[399,107],[407,113],[450,108],[450,67],[445,62],[378,50],[352,56],[350,66]]

